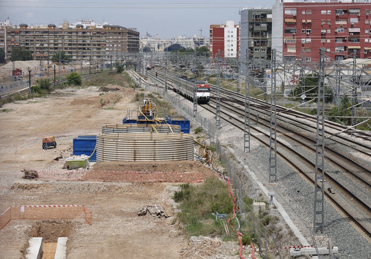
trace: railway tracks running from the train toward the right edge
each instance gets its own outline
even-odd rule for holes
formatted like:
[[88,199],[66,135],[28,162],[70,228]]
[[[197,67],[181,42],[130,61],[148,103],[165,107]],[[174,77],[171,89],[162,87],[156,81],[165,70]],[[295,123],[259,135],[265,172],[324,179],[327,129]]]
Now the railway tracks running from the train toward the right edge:
[[[163,85],[162,71],[156,70],[156,72],[158,85]],[[148,71],[148,73],[151,76],[155,72]],[[168,72],[167,75],[169,80],[175,73]],[[170,81],[167,82],[167,85],[169,88],[172,87]],[[210,87],[211,91],[215,92],[216,88],[212,85]],[[221,119],[244,131],[244,95],[222,89],[220,96]],[[210,100],[209,104],[203,105],[203,108],[214,114],[215,107],[215,98]],[[250,113],[252,116],[250,135],[269,147],[270,104],[261,100],[250,100]],[[277,154],[314,185],[315,163],[313,161],[315,160],[313,159],[315,159],[316,127],[314,125],[316,125],[316,117],[293,110],[287,111],[283,107],[277,107],[277,113]],[[298,119],[302,120],[298,122]],[[325,142],[325,165],[331,164],[338,171],[325,171],[325,195],[364,233],[371,237],[371,171],[365,165],[367,163],[363,163],[361,159],[347,156],[349,150],[351,153],[369,156],[371,144],[361,144],[358,141],[334,134],[334,131],[339,132],[344,129],[346,128],[339,124],[326,121],[325,134],[331,138],[326,139]],[[359,134],[358,137],[371,139],[368,134]],[[281,138],[283,141],[280,141]],[[302,155],[303,149],[312,154],[311,158]],[[344,176],[338,177],[339,173]]]

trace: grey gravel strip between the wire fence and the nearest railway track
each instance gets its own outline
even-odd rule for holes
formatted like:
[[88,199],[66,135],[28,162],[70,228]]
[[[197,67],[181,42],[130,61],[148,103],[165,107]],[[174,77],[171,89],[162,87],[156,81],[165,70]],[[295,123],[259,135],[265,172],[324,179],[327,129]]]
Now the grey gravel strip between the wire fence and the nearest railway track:
[[[170,94],[174,94],[170,92]],[[183,98],[181,97],[181,100]],[[193,103],[190,101],[182,101],[193,108]],[[202,106],[198,106],[198,114],[207,118],[207,120],[215,121],[215,115],[209,114]],[[335,132],[334,132],[335,133]],[[342,133],[343,136],[349,137]],[[269,189],[275,192],[275,198],[281,203],[285,211],[288,213],[295,225],[300,229],[302,234],[306,237],[310,244],[313,244],[311,232],[313,230],[313,199],[314,187],[308,184],[296,171],[289,165],[278,158],[277,160],[277,177],[278,184],[276,186],[267,186],[268,172],[269,172],[269,150],[263,147],[253,137],[250,138],[250,152],[243,153],[243,132],[234,129],[227,122],[221,120],[221,129],[218,133],[218,138],[221,144],[229,147],[235,157],[236,166],[241,168],[242,173],[247,178],[250,178],[249,173],[243,169],[247,166],[253,171],[261,182]],[[350,137],[349,137],[350,138]],[[354,138],[352,138],[354,139]],[[364,142],[362,139],[357,139],[359,142]],[[300,148],[300,147],[297,147]],[[313,156],[309,152],[303,151],[305,156]],[[307,153],[307,154],[306,154]],[[368,158],[370,161],[370,157]],[[332,165],[325,164],[326,172],[336,172]],[[344,175],[338,174],[345,178]],[[346,179],[344,179],[345,181]],[[253,181],[250,178],[250,181]],[[349,183],[352,184],[352,183]],[[262,194],[262,191],[255,184],[248,185],[249,188],[244,189],[244,194],[257,198]],[[358,188],[362,192],[361,188]],[[364,194],[370,196],[369,194]],[[260,197],[261,198],[261,197]],[[266,197],[269,201],[269,198]],[[284,223],[283,219],[280,221]],[[292,240],[292,242],[297,242]],[[349,219],[335,211],[334,207],[326,202],[325,199],[325,234],[322,237],[316,236],[316,243],[318,246],[327,247],[337,246],[339,258],[355,259],[355,258],[371,258],[371,244],[364,234],[359,233],[354,229]],[[298,243],[287,243],[287,246],[299,245]],[[322,258],[322,257],[321,257]]]

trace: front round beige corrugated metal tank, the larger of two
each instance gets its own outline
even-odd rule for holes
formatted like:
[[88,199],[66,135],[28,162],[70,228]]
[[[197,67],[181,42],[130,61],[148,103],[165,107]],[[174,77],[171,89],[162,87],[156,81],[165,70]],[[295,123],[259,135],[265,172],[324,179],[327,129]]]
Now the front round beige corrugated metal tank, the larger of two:
[[113,133],[96,137],[96,160],[193,160],[193,136],[174,133]]

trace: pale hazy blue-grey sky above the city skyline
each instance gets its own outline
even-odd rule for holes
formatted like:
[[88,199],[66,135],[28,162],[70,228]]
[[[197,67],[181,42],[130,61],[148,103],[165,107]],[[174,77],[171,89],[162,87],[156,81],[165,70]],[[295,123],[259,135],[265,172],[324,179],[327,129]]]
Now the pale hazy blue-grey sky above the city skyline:
[[140,36],[148,31],[152,37],[193,36],[202,34],[209,37],[210,24],[225,24],[228,20],[239,23],[239,11],[243,7],[272,7],[274,0],[233,1],[201,0],[191,2],[178,0],[159,1],[117,1],[117,0],[0,0],[0,21],[9,17],[12,24],[28,25],[49,23],[57,27],[63,20],[76,23],[81,19],[92,19],[97,23],[108,21],[109,24],[127,28],[137,28]]

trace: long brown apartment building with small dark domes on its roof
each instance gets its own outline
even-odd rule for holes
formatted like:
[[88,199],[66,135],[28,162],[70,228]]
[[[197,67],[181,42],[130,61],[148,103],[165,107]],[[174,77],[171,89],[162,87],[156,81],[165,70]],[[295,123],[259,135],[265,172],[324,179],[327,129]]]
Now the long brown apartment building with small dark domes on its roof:
[[[4,31],[4,33],[1,33]],[[12,49],[22,46],[31,51],[35,60],[51,60],[54,54],[64,51],[73,59],[102,59],[117,53],[139,52],[139,32],[135,28],[125,28],[105,24],[102,28],[85,27],[76,24],[75,28],[48,26],[3,26],[0,28],[0,44],[4,41],[6,58]]]

